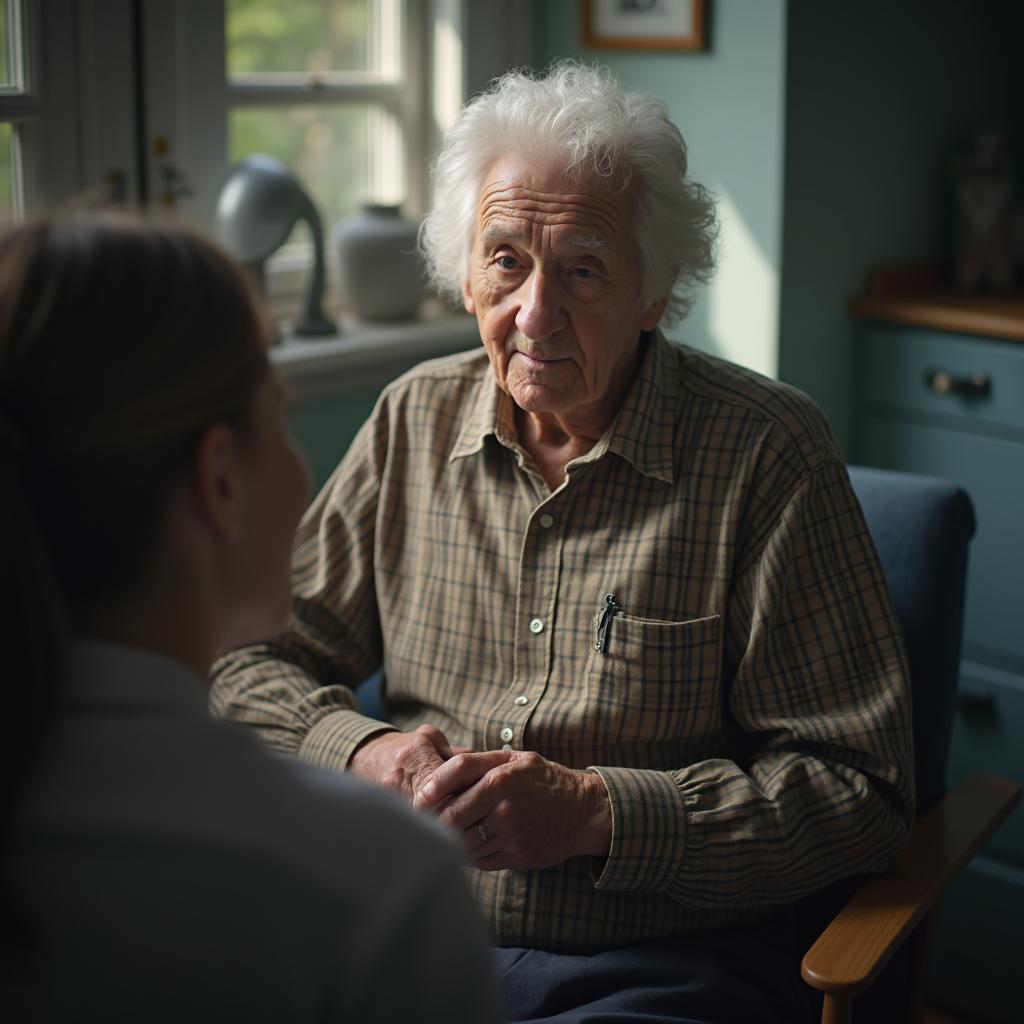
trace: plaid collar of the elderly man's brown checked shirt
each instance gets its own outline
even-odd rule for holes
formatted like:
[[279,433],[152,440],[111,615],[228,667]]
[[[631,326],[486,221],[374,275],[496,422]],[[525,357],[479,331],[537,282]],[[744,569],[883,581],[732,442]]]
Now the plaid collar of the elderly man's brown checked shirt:
[[[633,386],[604,436],[581,461],[596,461],[606,452],[626,459],[638,472],[672,483],[675,479],[673,438],[674,390],[667,378],[675,373],[675,358],[660,331],[649,332]],[[512,399],[499,388],[488,362],[476,388],[449,461],[479,452],[494,435],[506,447],[517,449]]]

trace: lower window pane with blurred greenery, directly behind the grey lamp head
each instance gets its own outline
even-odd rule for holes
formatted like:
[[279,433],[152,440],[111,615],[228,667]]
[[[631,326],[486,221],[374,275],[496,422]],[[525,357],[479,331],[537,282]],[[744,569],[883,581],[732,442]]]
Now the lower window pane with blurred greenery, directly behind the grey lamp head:
[[298,175],[325,233],[361,202],[399,203],[404,194],[398,126],[370,105],[243,108],[228,117],[233,163],[275,157]]

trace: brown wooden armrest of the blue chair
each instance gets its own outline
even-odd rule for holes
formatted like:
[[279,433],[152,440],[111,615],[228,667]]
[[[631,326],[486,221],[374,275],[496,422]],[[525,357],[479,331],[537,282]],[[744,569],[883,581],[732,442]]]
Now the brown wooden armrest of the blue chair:
[[818,936],[804,981],[839,996],[864,991],[1020,799],[1021,787],[997,775],[972,775],[947,793],[916,821],[899,860],[864,882]]

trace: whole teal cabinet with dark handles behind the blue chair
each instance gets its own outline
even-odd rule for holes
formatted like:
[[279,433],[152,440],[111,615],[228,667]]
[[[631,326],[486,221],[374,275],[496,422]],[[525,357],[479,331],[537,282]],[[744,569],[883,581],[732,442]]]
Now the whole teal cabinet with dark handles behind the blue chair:
[[[1024,341],[865,323],[855,461],[967,488],[971,545],[949,781],[1024,783]],[[966,1021],[1020,1019],[1024,812],[944,899],[930,999]]]

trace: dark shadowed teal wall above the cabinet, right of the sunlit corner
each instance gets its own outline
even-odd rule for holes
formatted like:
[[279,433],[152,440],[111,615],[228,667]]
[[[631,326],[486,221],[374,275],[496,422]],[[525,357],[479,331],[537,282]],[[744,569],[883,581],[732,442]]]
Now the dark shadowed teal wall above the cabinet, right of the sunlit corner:
[[790,0],[778,370],[846,449],[847,300],[872,264],[948,255],[955,147],[984,125],[1020,135],[1020,30],[1000,0]]

